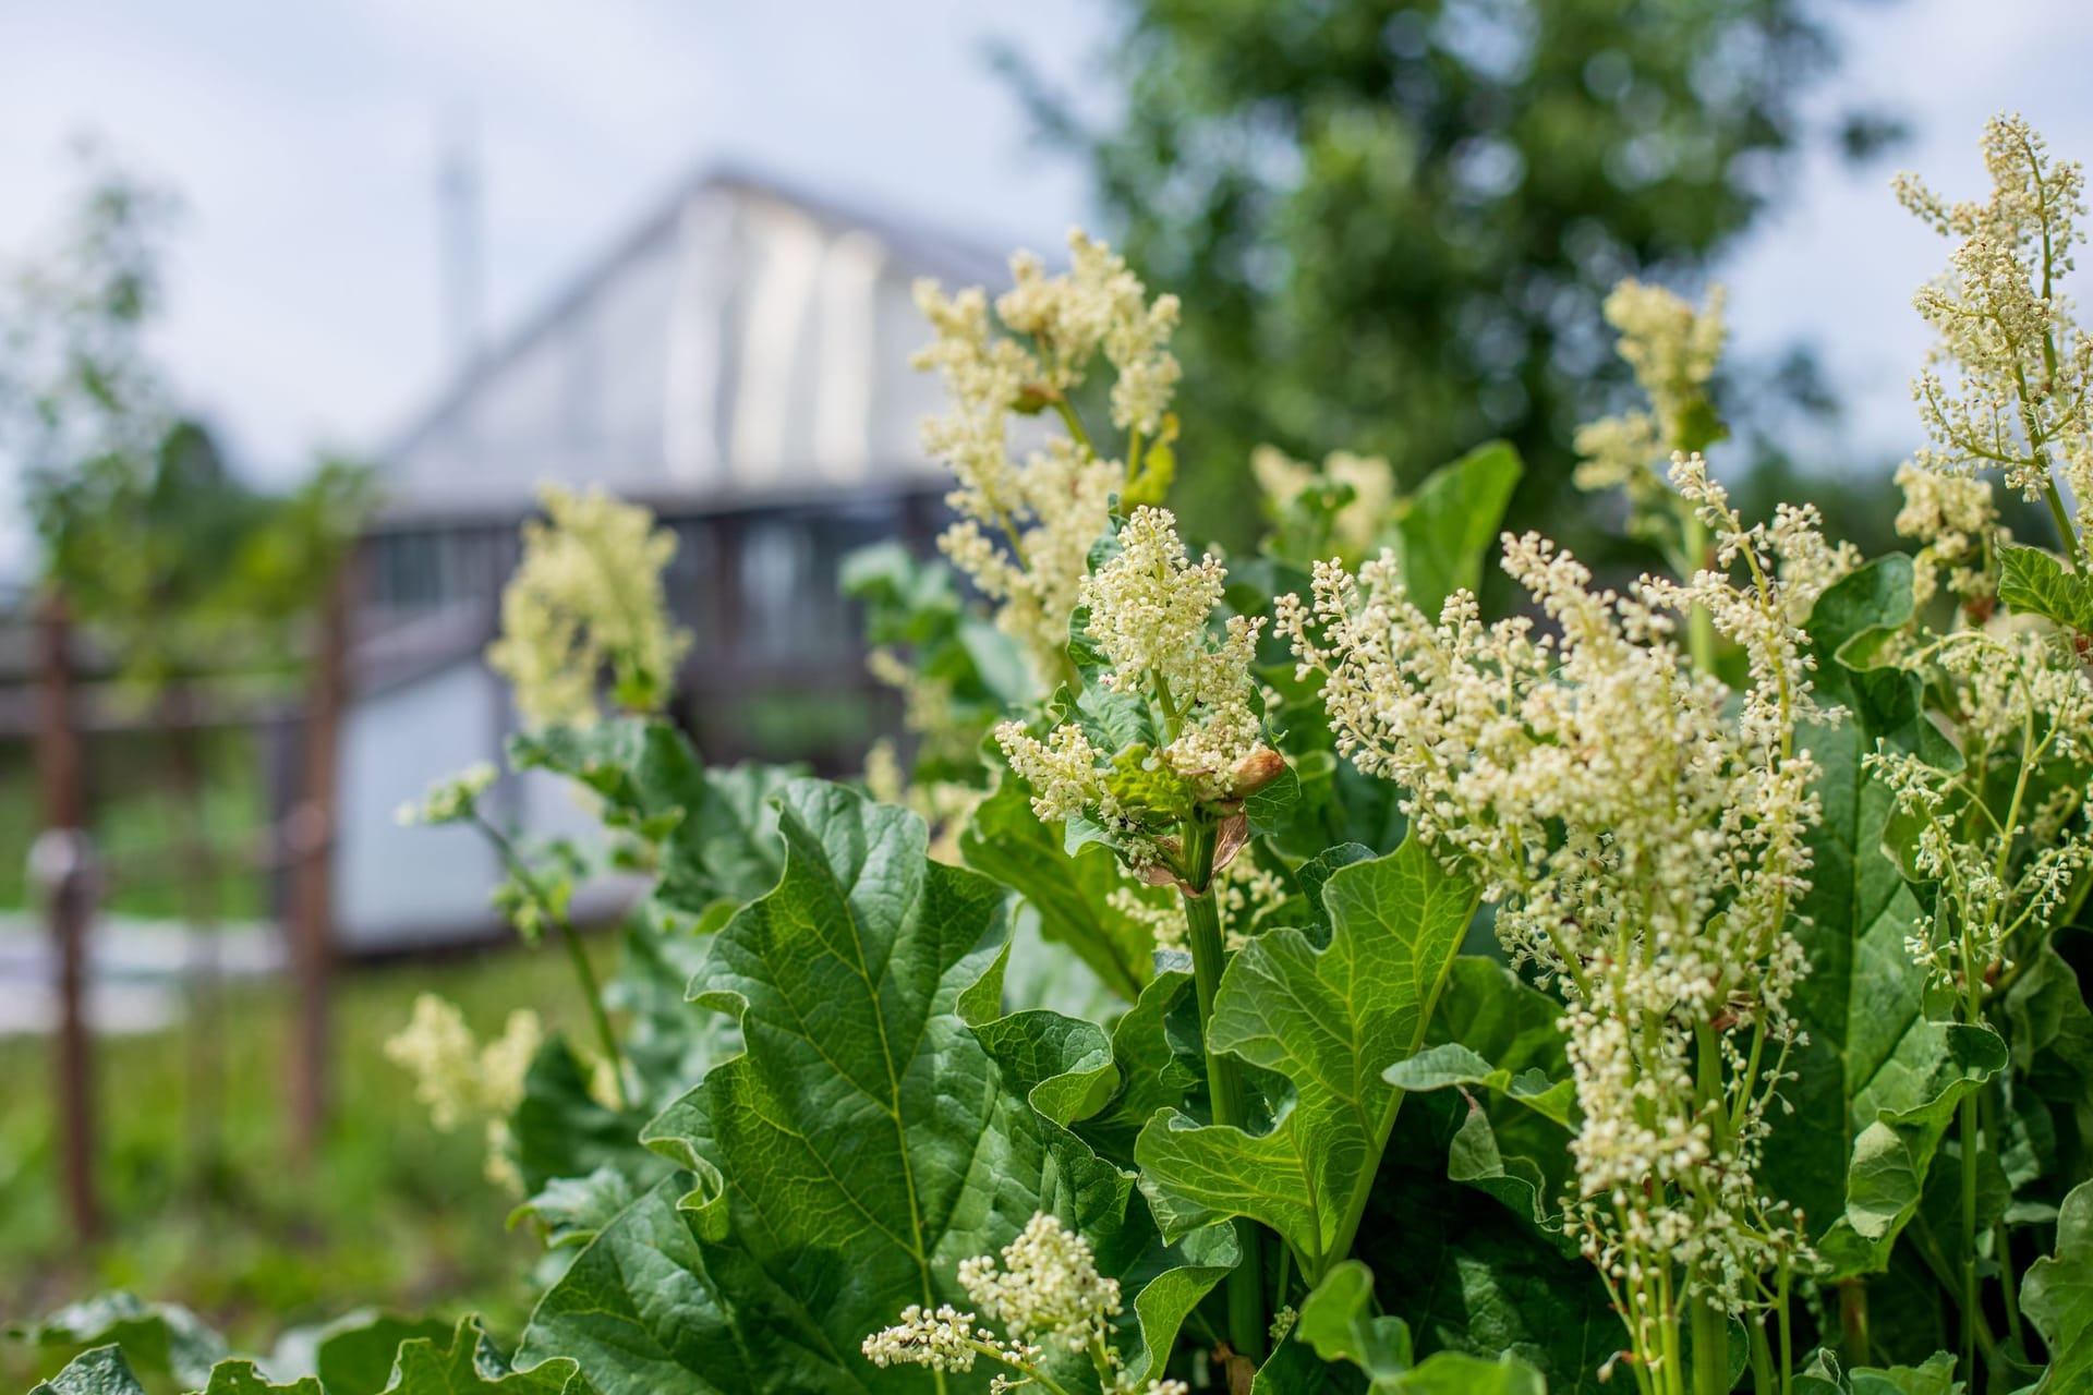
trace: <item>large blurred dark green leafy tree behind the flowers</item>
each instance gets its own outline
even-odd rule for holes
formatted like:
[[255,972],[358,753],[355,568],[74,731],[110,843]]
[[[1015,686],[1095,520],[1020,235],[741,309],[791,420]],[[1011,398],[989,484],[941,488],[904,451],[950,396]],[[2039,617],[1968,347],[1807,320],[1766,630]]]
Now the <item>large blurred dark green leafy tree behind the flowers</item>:
[[[1810,0],[1118,0],[1124,107],[1093,130],[1021,59],[1116,236],[1178,291],[1180,500],[1243,542],[1270,441],[1388,456],[1404,483],[1484,437],[1568,489],[1599,299],[1689,276],[1746,228],[1829,63]],[[1898,128],[1838,132],[1867,155]]]

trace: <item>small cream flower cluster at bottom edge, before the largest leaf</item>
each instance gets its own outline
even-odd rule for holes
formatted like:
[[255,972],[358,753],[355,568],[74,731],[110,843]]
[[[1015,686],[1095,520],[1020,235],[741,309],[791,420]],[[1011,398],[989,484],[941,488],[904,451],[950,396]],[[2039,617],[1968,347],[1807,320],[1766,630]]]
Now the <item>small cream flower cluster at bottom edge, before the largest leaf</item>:
[[[1111,1395],[1189,1395],[1180,1380],[1136,1380],[1111,1345],[1120,1316],[1120,1280],[1097,1272],[1090,1242],[1057,1217],[1038,1213],[1003,1247],[1000,1261],[977,1255],[959,1263],[959,1286],[980,1309],[910,1303],[902,1320],[864,1339],[875,1366],[927,1366],[969,1372],[980,1357],[1009,1366],[1015,1376],[994,1376],[992,1395],[1032,1387],[1061,1389],[1042,1378],[1040,1366],[1057,1357],[1086,1357]],[[1003,1326],[998,1336],[986,1322]]]

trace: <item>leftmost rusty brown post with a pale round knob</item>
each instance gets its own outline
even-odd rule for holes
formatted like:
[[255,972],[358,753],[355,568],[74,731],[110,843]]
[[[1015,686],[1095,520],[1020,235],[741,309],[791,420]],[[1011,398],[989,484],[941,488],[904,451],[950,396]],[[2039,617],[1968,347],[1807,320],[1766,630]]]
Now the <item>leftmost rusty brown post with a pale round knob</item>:
[[50,937],[59,962],[52,1037],[57,1060],[59,1167],[73,1232],[100,1232],[94,1196],[94,1060],[88,1037],[88,914],[92,899],[88,772],[73,709],[71,619],[65,596],[46,590],[36,617],[38,719],[36,765],[44,837],[33,855],[48,891]]

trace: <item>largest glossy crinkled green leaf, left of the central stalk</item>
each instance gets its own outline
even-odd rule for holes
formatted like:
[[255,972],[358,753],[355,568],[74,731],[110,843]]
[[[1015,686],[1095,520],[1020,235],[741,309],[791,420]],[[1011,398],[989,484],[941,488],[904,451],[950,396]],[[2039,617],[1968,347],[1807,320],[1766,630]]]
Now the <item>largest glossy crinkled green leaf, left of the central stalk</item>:
[[[931,864],[902,809],[814,780],[779,801],[783,878],[693,983],[739,1016],[745,1050],[649,1125],[687,1171],[603,1228],[525,1334],[605,1395],[929,1391],[929,1372],[879,1370],[858,1343],[908,1303],[963,1301],[961,1259],[1036,1211],[1101,1263],[1130,1244],[1126,1175],[1070,1146],[967,1025],[998,1010],[1003,889]],[[1099,1044],[1067,1037],[1084,1058]]]

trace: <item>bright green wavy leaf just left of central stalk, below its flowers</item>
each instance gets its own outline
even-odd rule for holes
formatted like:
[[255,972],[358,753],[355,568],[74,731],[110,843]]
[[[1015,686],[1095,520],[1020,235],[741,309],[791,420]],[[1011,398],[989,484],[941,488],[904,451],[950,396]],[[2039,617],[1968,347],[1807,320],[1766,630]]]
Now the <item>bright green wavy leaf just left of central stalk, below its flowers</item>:
[[1040,935],[1074,950],[1128,1002],[1155,977],[1153,931],[1107,906],[1126,885],[1118,860],[1097,843],[1070,855],[1059,832],[1034,818],[1021,780],[1005,776],[982,801],[959,837],[959,853],[1026,897],[1040,916]]

